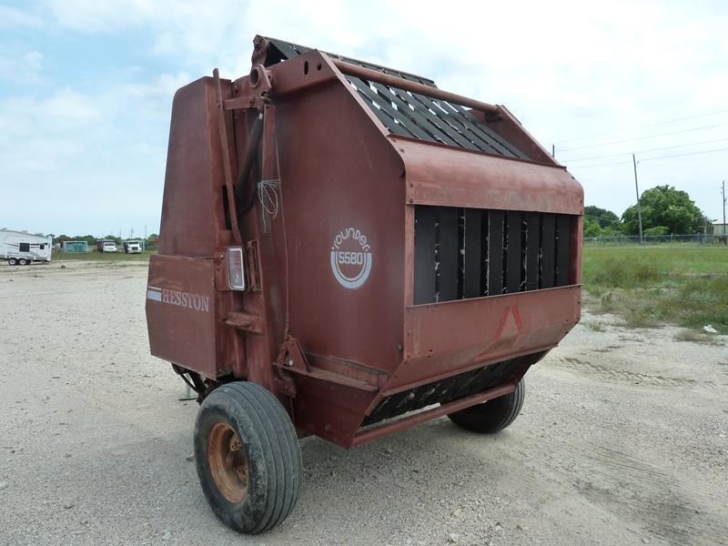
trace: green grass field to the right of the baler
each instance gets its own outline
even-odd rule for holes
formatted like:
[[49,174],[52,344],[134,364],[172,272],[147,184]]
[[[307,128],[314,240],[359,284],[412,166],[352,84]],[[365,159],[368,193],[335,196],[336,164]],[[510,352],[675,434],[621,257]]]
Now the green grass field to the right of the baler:
[[728,248],[584,248],[583,287],[592,311],[627,326],[711,324],[728,334]]

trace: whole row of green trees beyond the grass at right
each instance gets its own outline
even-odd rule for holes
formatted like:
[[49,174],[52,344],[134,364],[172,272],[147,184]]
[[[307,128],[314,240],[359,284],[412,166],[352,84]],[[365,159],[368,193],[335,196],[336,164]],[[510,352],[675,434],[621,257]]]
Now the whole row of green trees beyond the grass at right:
[[[703,214],[687,192],[672,186],[645,190],[640,196],[642,233],[644,235],[689,235],[712,229],[710,218]],[[584,207],[584,237],[640,235],[637,205],[627,207],[618,217],[611,210]]]

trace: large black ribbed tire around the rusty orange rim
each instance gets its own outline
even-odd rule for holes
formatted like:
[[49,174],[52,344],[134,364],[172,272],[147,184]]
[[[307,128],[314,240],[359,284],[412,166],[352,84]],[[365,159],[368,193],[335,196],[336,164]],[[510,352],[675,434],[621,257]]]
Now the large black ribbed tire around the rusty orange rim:
[[[248,494],[238,503],[217,489],[207,460],[207,434],[220,420],[235,430],[248,457]],[[195,460],[212,511],[236,531],[268,531],[296,505],[303,467],[296,430],[278,399],[256,383],[227,383],[203,400],[195,422]]]

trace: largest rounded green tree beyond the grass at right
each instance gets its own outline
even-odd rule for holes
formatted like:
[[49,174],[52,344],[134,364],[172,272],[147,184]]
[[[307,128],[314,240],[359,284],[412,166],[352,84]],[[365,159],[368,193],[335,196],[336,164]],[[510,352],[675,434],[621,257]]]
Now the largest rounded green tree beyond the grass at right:
[[[672,234],[691,234],[703,231],[710,223],[690,196],[672,186],[658,186],[645,190],[640,196],[642,229],[663,227],[659,231]],[[637,206],[632,205],[622,214],[622,229],[628,235],[639,235]]]

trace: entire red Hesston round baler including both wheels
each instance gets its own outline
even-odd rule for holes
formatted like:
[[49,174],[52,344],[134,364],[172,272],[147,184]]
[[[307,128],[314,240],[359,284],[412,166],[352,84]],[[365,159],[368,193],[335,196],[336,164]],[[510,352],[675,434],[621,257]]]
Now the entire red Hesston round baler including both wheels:
[[172,106],[152,354],[197,391],[217,516],[283,521],[298,436],[496,432],[580,318],[579,183],[505,106],[257,36]]

